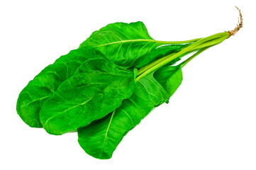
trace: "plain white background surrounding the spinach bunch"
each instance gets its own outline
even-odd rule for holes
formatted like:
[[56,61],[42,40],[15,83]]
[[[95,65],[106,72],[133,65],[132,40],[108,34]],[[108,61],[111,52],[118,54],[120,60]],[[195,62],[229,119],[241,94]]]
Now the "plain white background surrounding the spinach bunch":
[[[244,27],[183,69],[169,104],[124,137],[108,160],[77,134],[48,135],[16,114],[19,92],[57,57],[108,23],[143,21],[156,40],[189,40]],[[1,1],[0,169],[256,169],[253,1]]]

